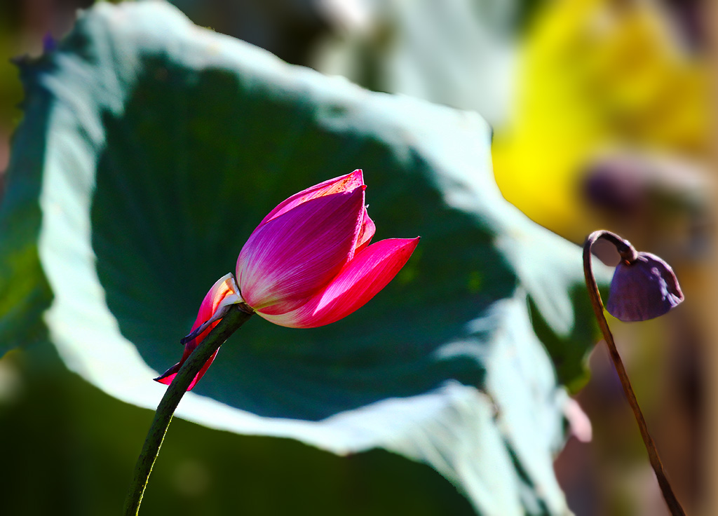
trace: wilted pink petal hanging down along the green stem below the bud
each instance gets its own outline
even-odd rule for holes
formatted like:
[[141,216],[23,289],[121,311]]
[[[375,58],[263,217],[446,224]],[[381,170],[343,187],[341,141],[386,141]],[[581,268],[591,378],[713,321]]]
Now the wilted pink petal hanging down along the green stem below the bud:
[[[227,275],[222,276],[212,286],[210,291],[205,296],[205,299],[202,300],[202,304],[200,304],[200,309],[199,311],[197,311],[197,319],[195,319],[195,324],[192,324],[192,330],[199,328],[202,324],[212,319],[213,316],[217,314],[218,310],[220,310],[224,306],[227,306],[228,304],[240,303],[241,301],[243,300],[239,295],[237,283],[234,281],[234,276],[232,276],[232,273],[228,273]],[[217,326],[219,322],[220,319],[217,319],[216,321],[210,323],[204,332],[200,333],[197,337],[195,337],[195,339],[190,340],[190,342],[187,342],[187,344],[185,344],[185,351],[182,352],[182,359],[180,360],[180,362],[177,362],[177,364],[170,367],[161,376],[155,378],[154,380],[159,383],[164,383],[164,385],[169,385],[170,383],[172,383],[172,380],[174,380],[174,377],[177,376],[177,372],[180,371],[180,367],[182,367],[182,364],[185,363],[185,360],[187,360],[190,355],[192,355],[192,352],[200,344],[200,342],[202,342],[202,339],[207,337],[208,334],[215,326]],[[200,370],[200,372],[197,373],[187,390],[192,390],[192,388],[197,385],[197,382],[200,381],[202,375],[207,372],[208,368],[212,364],[212,361],[215,360],[216,356],[217,352],[215,351],[214,354],[210,357],[210,359],[205,362],[205,365],[202,366],[202,369]]]

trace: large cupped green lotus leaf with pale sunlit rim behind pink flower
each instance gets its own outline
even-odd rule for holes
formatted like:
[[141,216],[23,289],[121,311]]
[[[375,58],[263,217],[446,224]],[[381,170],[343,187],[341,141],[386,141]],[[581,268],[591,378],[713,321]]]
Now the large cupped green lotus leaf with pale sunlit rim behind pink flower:
[[23,76],[4,346],[46,338],[90,383],[155,408],[151,378],[253,227],[361,167],[376,238],[421,235],[409,263],[328,327],[253,318],[178,416],[337,454],[383,447],[481,514],[564,514],[554,363],[576,380],[592,341],[580,253],[500,196],[482,118],[286,65],[160,2],[98,4]]

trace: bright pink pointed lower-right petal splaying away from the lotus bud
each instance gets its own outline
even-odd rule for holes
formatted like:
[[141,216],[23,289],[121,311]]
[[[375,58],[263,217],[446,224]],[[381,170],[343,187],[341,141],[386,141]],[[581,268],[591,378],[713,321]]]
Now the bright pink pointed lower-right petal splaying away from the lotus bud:
[[361,308],[383,289],[414,253],[417,238],[390,238],[355,255],[325,289],[286,314],[257,313],[269,322],[291,328],[324,326]]

